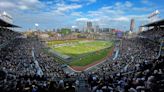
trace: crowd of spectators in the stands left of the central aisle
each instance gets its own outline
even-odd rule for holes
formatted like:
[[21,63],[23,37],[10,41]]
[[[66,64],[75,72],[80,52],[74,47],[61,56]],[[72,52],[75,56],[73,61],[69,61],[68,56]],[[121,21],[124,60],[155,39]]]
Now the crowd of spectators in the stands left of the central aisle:
[[[64,73],[60,64],[44,53],[43,45],[37,38],[16,37],[18,35],[13,34],[19,33],[12,30],[0,32],[5,34],[2,35],[1,42],[2,40],[8,42],[0,49],[1,92],[52,92],[54,89],[69,92],[69,90],[75,90],[73,85],[75,85],[74,79],[76,78],[71,80],[69,75]],[[11,38],[4,40],[8,38],[7,35]],[[37,75],[34,57],[44,73],[43,76]],[[65,80],[65,78],[68,79]]]

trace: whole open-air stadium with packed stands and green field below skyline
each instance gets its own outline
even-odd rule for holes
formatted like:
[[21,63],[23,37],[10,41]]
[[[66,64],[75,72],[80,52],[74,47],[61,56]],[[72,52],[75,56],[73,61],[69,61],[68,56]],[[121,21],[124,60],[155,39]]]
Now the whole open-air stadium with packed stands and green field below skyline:
[[[117,30],[23,33],[0,18],[0,92],[164,92],[164,19],[142,27],[130,38]],[[69,49],[76,54],[63,51],[78,46],[82,51]],[[69,59],[57,56],[57,48]],[[77,60],[92,62],[73,66]]]

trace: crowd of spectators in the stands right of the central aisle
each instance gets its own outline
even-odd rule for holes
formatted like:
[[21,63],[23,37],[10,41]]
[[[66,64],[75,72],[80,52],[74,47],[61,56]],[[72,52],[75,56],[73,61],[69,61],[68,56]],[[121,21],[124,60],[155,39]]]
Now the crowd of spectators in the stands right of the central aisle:
[[91,90],[163,92],[164,59],[157,58],[159,46],[159,43],[149,38],[123,39],[117,59],[90,73],[88,81]]

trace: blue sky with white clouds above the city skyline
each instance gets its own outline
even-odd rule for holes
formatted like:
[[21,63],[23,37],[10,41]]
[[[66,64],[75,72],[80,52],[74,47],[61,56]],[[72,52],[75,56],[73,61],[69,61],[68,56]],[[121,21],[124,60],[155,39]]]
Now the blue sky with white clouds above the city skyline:
[[130,20],[135,29],[148,23],[148,16],[159,10],[164,18],[163,0],[0,0],[0,12],[6,11],[21,30],[71,28],[92,21],[100,27],[129,30]]

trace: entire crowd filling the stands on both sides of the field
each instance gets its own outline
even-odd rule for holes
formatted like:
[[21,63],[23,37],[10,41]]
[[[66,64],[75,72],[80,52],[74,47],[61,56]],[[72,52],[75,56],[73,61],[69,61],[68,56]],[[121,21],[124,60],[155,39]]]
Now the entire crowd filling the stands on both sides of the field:
[[[164,91],[164,60],[156,58],[159,44],[147,38],[123,39],[117,59],[100,65],[96,71],[71,75],[45,54],[44,45],[37,38],[11,40],[16,37],[14,31],[0,33],[1,43],[10,41],[0,49],[1,92],[77,92],[81,79],[89,84],[91,92]],[[42,76],[37,74],[34,57]]]

